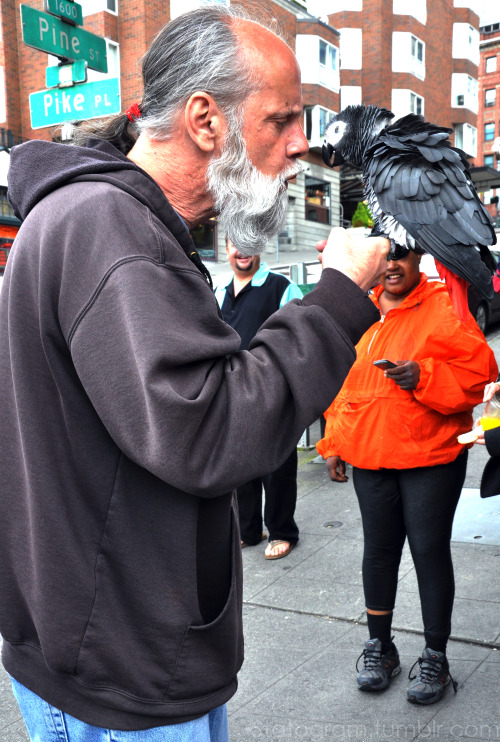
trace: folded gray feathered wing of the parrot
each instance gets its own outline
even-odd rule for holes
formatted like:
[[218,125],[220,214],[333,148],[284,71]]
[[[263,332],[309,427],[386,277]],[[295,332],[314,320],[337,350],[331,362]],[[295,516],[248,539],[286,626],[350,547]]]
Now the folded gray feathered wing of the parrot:
[[365,187],[384,216],[491,299],[495,261],[488,246],[496,243],[495,231],[465,154],[450,146],[448,133],[419,116],[396,121],[367,151]]

